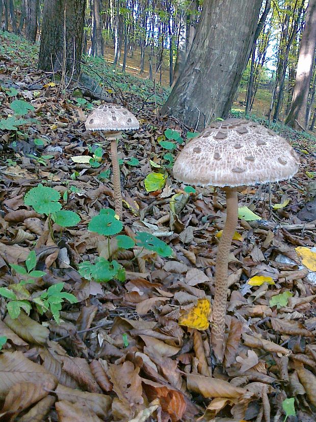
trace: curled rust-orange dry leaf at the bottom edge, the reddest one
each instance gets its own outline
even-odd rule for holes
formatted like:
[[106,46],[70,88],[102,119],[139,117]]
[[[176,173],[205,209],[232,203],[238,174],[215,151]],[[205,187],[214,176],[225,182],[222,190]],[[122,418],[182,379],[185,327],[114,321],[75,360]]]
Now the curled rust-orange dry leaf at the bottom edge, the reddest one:
[[147,379],[143,379],[143,383],[148,399],[159,399],[163,411],[168,413],[172,422],[182,419],[187,409],[183,393]]

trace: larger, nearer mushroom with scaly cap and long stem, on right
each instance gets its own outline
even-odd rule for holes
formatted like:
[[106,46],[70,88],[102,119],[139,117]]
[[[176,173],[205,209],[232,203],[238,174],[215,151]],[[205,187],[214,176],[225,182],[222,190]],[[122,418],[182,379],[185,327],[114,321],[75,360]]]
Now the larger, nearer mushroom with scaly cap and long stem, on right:
[[213,351],[220,362],[225,351],[228,255],[238,222],[238,190],[290,179],[298,168],[299,158],[284,138],[256,122],[236,118],[212,123],[175,160],[175,179],[191,185],[217,186],[226,194],[226,222],[216,258],[211,335]]

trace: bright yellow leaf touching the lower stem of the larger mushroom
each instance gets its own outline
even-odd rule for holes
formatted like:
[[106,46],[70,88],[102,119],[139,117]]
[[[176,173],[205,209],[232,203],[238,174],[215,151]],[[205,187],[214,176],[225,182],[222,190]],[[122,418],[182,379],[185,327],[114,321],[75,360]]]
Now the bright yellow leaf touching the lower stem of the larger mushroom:
[[208,299],[199,299],[197,304],[185,311],[180,311],[178,319],[179,325],[185,325],[197,330],[206,330],[209,326],[208,315],[210,312],[210,303]]

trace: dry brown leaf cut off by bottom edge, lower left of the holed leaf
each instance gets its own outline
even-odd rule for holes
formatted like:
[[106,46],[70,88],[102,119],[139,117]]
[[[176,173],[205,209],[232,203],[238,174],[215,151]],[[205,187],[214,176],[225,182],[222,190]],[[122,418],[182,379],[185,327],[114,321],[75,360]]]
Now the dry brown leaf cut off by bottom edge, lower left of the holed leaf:
[[55,404],[60,422],[102,422],[84,403],[70,403],[61,400]]

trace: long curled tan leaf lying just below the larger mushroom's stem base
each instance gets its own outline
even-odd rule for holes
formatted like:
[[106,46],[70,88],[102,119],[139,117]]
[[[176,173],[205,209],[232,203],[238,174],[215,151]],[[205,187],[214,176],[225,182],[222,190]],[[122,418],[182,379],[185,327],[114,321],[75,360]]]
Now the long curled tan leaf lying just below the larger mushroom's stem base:
[[249,398],[245,388],[235,387],[227,381],[218,378],[203,377],[202,375],[187,375],[187,385],[190,391],[202,394],[206,398],[225,397],[228,399]]

